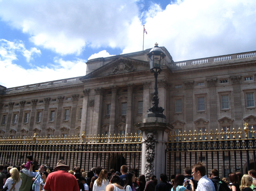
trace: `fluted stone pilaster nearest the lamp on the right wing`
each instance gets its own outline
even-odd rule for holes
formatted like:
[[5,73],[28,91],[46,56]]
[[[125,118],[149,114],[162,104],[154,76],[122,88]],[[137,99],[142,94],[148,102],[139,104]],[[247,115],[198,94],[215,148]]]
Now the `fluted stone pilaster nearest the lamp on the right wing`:
[[184,87],[186,90],[186,130],[193,130],[193,83],[194,82],[184,82]]

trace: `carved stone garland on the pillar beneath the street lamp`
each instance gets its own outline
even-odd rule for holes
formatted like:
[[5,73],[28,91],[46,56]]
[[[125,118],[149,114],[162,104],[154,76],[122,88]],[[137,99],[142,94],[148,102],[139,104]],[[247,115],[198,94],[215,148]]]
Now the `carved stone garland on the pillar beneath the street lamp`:
[[155,132],[148,131],[145,138],[145,158],[147,162],[145,163],[145,177],[146,180],[150,180],[150,177],[153,175],[154,171],[154,158],[155,158],[155,142],[156,136]]

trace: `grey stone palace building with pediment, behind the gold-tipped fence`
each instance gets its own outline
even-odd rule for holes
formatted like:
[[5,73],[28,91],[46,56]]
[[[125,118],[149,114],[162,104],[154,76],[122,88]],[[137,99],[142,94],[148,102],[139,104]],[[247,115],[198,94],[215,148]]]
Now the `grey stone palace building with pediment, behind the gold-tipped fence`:
[[[160,48],[159,106],[173,131],[256,127],[256,51],[174,62]],[[149,51],[88,60],[83,77],[0,86],[0,137],[140,133],[152,106]]]

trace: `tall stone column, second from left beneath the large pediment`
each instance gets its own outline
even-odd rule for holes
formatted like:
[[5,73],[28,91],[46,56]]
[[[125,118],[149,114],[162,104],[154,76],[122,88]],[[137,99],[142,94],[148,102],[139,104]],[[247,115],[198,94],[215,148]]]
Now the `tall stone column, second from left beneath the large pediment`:
[[100,134],[101,127],[101,118],[102,118],[102,103],[103,103],[103,94],[105,90],[103,88],[94,89],[95,92],[95,100],[89,101],[93,108],[93,125],[92,125],[92,135],[94,134],[98,136]]

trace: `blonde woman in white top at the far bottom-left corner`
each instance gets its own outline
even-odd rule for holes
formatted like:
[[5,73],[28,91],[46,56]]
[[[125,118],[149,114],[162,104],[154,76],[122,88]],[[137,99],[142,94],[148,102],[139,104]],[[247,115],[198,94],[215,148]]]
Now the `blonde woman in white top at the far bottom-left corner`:
[[8,191],[19,191],[22,180],[18,169],[12,168],[10,174],[11,177],[6,180],[3,188],[8,187]]

